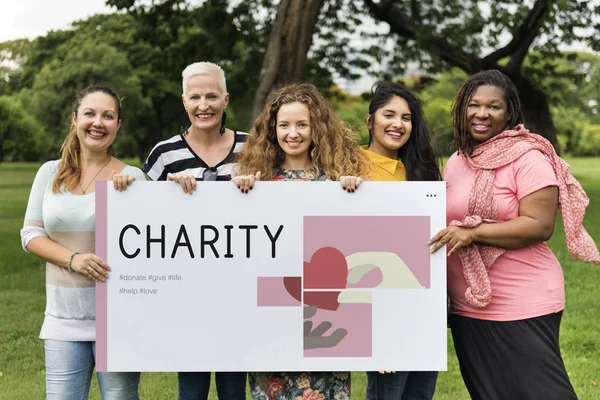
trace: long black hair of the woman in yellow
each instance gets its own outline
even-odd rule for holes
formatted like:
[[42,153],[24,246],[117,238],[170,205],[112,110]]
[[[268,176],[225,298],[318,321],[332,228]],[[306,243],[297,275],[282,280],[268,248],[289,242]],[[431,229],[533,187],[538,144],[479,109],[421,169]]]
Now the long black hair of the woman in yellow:
[[[369,114],[375,124],[377,110],[389,103],[394,96],[408,103],[412,118],[412,131],[408,141],[398,149],[397,158],[406,167],[406,179],[409,181],[441,181],[442,174],[438,157],[431,145],[431,134],[425,123],[423,109],[418,97],[397,83],[382,82],[376,85],[373,98],[369,103]],[[369,127],[369,144],[373,140]]]

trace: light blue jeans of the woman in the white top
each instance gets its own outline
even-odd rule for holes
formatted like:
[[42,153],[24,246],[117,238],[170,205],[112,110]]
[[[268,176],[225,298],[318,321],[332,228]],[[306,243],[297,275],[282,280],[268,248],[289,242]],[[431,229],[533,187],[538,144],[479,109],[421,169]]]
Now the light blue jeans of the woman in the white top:
[[[96,342],[46,339],[47,400],[87,400],[96,364]],[[139,372],[98,372],[103,400],[138,400]]]

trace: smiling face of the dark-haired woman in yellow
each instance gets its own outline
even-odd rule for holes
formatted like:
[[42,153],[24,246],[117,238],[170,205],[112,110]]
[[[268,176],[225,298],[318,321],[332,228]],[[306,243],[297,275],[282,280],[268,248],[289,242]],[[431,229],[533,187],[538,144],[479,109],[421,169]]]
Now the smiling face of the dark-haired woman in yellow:
[[371,131],[369,149],[395,159],[412,132],[412,114],[406,100],[393,96],[383,107],[367,117]]

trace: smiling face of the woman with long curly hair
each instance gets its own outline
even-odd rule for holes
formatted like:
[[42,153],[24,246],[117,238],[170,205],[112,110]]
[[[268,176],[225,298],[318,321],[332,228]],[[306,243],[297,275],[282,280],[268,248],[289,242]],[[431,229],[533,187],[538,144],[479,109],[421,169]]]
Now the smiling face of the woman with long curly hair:
[[276,129],[277,142],[286,154],[286,160],[307,162],[312,138],[306,104],[296,102],[282,105],[277,112]]

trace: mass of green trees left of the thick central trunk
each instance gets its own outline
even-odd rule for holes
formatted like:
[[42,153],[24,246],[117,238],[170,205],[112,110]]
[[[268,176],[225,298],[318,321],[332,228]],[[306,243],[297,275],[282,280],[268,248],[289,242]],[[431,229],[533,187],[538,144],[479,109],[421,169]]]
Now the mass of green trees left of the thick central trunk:
[[[60,146],[75,90],[105,83],[125,96],[119,154],[144,160],[158,141],[189,123],[181,101],[181,71],[195,61],[223,67],[231,93],[228,126],[248,125],[266,47],[251,4],[229,9],[225,0],[197,7],[170,0],[151,7],[119,3],[131,3],[131,9],[95,15],[74,22],[71,30],[39,37],[18,68],[7,71],[2,93],[22,99],[53,138],[43,157],[55,156]],[[0,46],[0,62],[12,54],[3,48],[7,46]]]

